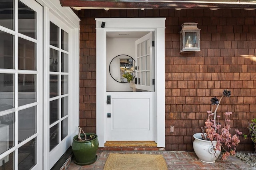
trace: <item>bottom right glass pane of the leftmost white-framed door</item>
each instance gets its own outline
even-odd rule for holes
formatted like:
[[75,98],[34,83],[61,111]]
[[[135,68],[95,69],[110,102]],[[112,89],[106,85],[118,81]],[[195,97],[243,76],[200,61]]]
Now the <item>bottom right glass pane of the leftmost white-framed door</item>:
[[19,148],[19,170],[29,170],[36,164],[36,138]]

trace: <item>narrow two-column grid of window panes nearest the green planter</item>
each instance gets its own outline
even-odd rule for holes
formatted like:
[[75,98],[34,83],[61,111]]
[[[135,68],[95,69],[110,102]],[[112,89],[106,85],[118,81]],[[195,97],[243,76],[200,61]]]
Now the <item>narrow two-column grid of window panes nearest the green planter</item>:
[[50,22],[50,151],[68,136],[68,33]]

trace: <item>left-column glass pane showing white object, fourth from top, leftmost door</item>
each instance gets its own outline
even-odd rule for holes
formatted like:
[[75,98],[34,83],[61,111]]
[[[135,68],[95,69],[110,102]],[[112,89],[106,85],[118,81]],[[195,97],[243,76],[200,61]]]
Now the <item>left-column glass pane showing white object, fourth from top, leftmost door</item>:
[[14,146],[14,119],[14,113],[0,116],[0,154]]

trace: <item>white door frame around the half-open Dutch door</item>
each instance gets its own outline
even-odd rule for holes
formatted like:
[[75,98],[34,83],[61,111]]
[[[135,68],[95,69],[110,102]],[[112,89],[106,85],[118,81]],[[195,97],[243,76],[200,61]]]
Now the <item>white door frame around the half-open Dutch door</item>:
[[[96,129],[99,147],[106,142],[106,33],[155,32],[155,112],[157,147],[165,147],[165,48],[166,18],[97,18],[96,20]],[[102,22],[105,23],[102,26]]]

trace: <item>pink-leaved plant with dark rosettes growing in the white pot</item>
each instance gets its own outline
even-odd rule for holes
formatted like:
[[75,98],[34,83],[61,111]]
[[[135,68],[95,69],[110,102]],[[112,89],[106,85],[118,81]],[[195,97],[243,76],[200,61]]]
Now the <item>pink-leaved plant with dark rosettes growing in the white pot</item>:
[[[234,155],[236,153],[236,145],[240,143],[239,135],[242,134],[242,132],[238,131],[238,129],[235,130],[236,133],[234,135],[230,133],[230,115],[232,112],[225,112],[225,123],[223,127],[219,123],[220,115],[216,115],[217,109],[223,97],[230,97],[230,95],[231,92],[225,89],[220,100],[218,100],[216,97],[211,99],[211,110],[207,111],[208,119],[206,119],[204,127],[201,128],[203,133],[201,136],[204,140],[216,141],[215,146],[212,143],[215,156],[216,150],[221,151],[221,149],[224,149],[221,160],[226,160],[230,154]],[[216,107],[213,112],[214,105],[216,105]],[[216,117],[218,118],[217,123]],[[223,145],[226,147],[223,147]]]

